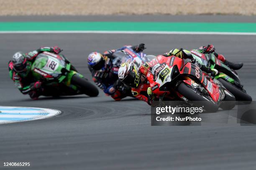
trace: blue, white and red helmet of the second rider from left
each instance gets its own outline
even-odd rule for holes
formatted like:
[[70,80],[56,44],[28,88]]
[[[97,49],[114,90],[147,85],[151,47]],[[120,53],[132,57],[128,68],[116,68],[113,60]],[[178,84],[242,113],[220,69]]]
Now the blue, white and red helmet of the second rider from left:
[[87,58],[88,64],[94,70],[100,70],[105,66],[105,60],[102,54],[99,52],[92,52],[89,54]]

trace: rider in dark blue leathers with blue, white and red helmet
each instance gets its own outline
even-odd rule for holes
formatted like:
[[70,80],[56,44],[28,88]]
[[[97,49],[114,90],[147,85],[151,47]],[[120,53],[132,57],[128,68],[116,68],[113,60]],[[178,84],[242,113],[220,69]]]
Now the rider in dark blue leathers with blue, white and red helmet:
[[126,97],[130,93],[130,89],[125,90],[123,88],[123,90],[118,90],[118,87],[122,86],[123,83],[118,80],[117,76],[119,66],[113,66],[113,60],[115,59],[113,54],[127,47],[135,52],[142,52],[145,49],[144,46],[145,44],[143,43],[134,46],[124,46],[117,50],[105,51],[103,55],[99,52],[90,53],[87,62],[92,73],[92,80],[106,95],[110,95],[114,100],[121,100]]

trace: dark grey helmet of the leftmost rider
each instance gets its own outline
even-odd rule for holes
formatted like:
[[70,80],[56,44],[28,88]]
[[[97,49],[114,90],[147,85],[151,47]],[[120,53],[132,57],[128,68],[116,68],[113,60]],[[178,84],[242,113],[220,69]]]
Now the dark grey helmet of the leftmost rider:
[[27,59],[25,57],[25,54],[23,52],[16,52],[13,55],[13,68],[16,72],[26,72],[27,68]]

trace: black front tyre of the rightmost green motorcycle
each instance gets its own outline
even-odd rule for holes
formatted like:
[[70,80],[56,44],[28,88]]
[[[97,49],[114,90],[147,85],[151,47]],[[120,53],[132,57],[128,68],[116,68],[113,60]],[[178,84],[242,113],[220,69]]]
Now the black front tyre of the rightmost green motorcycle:
[[238,87],[232,85],[231,83],[229,83],[227,80],[224,80],[223,78],[219,78],[218,80],[223,84],[223,86],[229,92],[231,92],[236,97],[237,101],[246,101],[247,104],[251,103],[252,98],[246,92],[243,92]]

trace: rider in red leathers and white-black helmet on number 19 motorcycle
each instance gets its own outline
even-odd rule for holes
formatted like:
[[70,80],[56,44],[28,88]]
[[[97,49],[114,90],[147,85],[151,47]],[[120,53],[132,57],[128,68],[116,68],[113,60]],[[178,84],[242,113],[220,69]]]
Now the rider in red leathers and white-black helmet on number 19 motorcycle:
[[[191,52],[183,49],[171,50],[169,53],[165,53],[163,56],[169,57],[173,55],[183,59],[189,58],[193,63],[196,62],[196,60],[192,58]],[[210,73],[212,76],[218,74],[218,70],[216,69],[210,69],[209,67],[201,65],[200,63],[197,64],[202,71]],[[137,68],[132,62],[126,62],[119,68],[118,77],[121,82],[132,88],[132,94],[134,97],[147,102],[148,105],[151,105],[151,102],[156,96],[152,92],[150,83],[148,81],[148,79],[153,78],[148,72],[148,67],[148,63],[144,63],[140,68]],[[172,97],[169,97],[169,99],[172,100]]]

